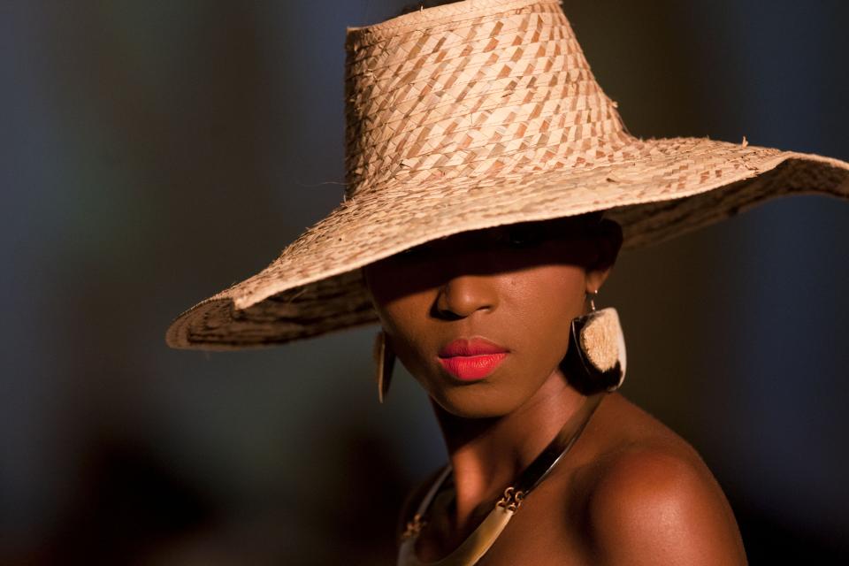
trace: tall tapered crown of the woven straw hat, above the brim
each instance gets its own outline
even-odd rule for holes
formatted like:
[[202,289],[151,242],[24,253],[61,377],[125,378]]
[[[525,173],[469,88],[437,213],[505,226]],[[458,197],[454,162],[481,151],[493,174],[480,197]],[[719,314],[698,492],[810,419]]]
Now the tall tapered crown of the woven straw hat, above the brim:
[[627,135],[556,1],[447,4],[350,28],[346,49],[348,196],[593,164]]

